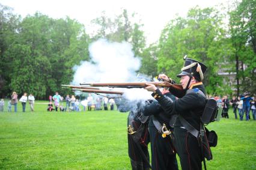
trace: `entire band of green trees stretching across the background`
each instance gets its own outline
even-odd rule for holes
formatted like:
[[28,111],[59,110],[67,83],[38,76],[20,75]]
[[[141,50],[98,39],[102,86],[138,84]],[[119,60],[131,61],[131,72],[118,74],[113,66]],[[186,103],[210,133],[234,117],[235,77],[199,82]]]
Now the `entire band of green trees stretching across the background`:
[[[135,57],[141,59],[138,73],[154,77],[159,73],[176,79],[183,67],[183,56],[207,65],[204,83],[208,94],[237,95],[256,93],[256,1],[233,4],[227,15],[216,8],[190,9],[186,17],[177,16],[162,29],[159,41],[146,44],[141,20],[123,9],[117,16],[92,20],[94,33],[70,17],[53,19],[39,12],[21,18],[0,4],[0,96],[32,93],[46,99],[61,84],[73,79],[72,68],[90,61],[89,44],[99,38],[127,41]],[[138,17],[137,17],[138,19]],[[234,87],[224,83],[229,77],[219,72],[235,73]]]

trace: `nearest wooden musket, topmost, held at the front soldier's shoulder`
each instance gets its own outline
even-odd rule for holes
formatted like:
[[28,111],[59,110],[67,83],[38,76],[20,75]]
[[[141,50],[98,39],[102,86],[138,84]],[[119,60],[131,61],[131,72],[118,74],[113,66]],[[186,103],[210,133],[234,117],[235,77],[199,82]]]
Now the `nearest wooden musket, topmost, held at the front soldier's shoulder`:
[[80,83],[80,85],[90,85],[91,87],[109,87],[109,88],[145,88],[146,83],[155,85],[156,87],[168,87],[174,96],[181,98],[185,95],[183,87],[178,84],[169,82],[122,82],[122,83]]

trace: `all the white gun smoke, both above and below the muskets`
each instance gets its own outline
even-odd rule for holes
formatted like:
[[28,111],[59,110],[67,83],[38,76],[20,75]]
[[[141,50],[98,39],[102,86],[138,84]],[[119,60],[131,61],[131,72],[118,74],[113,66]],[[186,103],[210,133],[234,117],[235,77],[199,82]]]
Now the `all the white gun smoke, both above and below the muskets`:
[[[141,61],[138,56],[134,56],[132,45],[127,42],[117,43],[99,39],[90,44],[89,52],[91,61],[81,61],[80,65],[73,67],[75,75],[72,85],[79,85],[81,82],[150,81],[149,77],[136,73]],[[124,91],[121,100],[115,100],[123,111],[137,109],[136,103],[153,99],[151,93],[143,88],[113,90]]]

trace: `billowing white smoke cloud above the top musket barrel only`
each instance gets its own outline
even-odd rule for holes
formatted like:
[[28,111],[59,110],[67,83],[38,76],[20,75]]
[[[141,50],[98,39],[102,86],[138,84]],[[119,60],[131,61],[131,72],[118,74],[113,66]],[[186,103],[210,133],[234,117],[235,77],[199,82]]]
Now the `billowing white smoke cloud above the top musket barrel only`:
[[141,61],[135,58],[132,46],[127,43],[95,41],[89,46],[91,62],[82,61],[75,66],[73,84],[81,82],[129,82],[136,80],[135,71]]

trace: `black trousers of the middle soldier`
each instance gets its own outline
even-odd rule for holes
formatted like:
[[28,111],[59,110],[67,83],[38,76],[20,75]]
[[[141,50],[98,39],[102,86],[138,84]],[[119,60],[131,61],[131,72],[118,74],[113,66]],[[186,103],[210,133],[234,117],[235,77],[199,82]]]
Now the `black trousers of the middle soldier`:
[[171,138],[158,132],[156,127],[148,126],[151,142],[151,166],[152,170],[178,169],[176,153],[171,145]]

